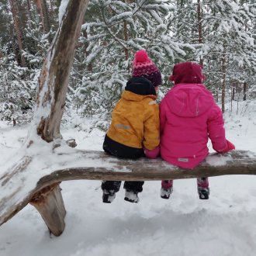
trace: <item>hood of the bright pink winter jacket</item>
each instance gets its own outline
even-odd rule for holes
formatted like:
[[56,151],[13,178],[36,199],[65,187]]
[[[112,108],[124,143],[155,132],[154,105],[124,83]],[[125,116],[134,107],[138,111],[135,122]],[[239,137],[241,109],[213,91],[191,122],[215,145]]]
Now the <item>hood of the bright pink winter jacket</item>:
[[178,84],[166,95],[167,105],[176,116],[195,117],[214,104],[213,95],[202,84]]

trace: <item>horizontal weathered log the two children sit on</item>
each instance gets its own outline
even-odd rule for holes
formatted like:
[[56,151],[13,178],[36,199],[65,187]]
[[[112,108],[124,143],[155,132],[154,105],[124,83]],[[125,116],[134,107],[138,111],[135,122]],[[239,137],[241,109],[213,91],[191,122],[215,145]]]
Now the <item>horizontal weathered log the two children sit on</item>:
[[[157,181],[164,179],[183,179],[213,177],[220,175],[256,175],[256,158],[246,157],[246,151],[230,152],[230,159],[221,154],[211,154],[207,161],[198,167],[188,170],[177,168],[174,165],[157,159],[140,158],[137,161],[110,157],[104,152],[92,151],[93,160],[106,161],[106,168],[97,165],[86,168],[67,168],[52,172],[40,178],[37,185],[50,185],[52,182],[69,180],[115,180],[115,181]],[[86,155],[90,155],[88,151]],[[224,162],[223,162],[224,161]],[[211,165],[209,164],[216,164]],[[108,163],[113,164],[112,168]],[[114,171],[113,171],[114,169]]]

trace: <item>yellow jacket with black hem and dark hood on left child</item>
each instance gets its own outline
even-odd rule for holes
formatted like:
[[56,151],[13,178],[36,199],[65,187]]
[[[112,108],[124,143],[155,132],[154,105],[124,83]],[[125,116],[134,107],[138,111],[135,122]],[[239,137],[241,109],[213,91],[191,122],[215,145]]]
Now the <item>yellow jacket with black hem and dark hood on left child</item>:
[[144,147],[159,145],[159,110],[154,86],[146,78],[130,78],[112,111],[112,122],[103,144],[116,157],[144,157]]

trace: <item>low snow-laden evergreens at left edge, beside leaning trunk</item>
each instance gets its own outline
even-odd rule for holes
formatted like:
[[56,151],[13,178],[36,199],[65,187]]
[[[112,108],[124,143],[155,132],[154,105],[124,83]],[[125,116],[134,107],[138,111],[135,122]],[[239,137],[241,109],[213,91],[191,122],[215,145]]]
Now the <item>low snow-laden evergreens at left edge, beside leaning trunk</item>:
[[14,54],[0,42],[0,119],[14,126],[28,123],[32,117],[36,82],[26,74],[28,69],[20,67]]

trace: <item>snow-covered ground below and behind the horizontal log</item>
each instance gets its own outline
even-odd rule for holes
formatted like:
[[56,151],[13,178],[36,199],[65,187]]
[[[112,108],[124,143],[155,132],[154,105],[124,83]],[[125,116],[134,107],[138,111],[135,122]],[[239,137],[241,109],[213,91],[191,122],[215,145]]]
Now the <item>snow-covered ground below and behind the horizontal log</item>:
[[[255,116],[256,102],[241,104],[238,115],[236,109],[232,116],[225,114],[227,139],[237,149],[256,152]],[[22,146],[27,128],[0,122],[2,162]],[[75,138],[77,148],[102,149],[99,130],[88,134],[66,125],[61,133]],[[0,227],[0,255],[255,255],[256,177],[221,176],[209,182],[206,201],[199,200],[195,179],[175,181],[169,200],[160,198],[161,182],[145,182],[138,204],[124,201],[123,189],[112,204],[103,204],[99,181],[62,182],[67,216],[61,237],[50,236],[40,214],[26,206]]]

